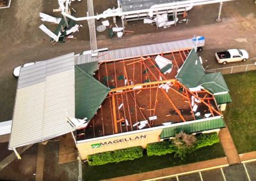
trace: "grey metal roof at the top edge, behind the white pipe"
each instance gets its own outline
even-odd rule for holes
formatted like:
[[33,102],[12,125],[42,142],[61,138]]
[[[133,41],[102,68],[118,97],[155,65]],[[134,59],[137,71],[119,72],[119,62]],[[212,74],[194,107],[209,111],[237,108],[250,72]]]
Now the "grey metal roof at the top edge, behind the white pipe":
[[122,6],[123,11],[134,11],[141,9],[149,9],[155,4],[166,4],[175,3],[177,1],[188,1],[188,0],[119,0],[120,6]]

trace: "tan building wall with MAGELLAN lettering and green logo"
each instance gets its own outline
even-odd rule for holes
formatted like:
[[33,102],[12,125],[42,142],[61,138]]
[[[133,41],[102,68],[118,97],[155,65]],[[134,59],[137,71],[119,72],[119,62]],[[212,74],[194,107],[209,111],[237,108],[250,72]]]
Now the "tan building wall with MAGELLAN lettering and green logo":
[[[145,131],[141,133],[131,133],[122,136],[115,136],[112,138],[104,138],[95,141],[87,141],[84,143],[77,143],[81,159],[87,159],[88,155],[97,154],[100,152],[108,152],[123,148],[141,146],[145,148],[148,143],[160,141],[160,134],[163,129],[156,129],[152,131]],[[99,145],[92,148],[93,144]]]

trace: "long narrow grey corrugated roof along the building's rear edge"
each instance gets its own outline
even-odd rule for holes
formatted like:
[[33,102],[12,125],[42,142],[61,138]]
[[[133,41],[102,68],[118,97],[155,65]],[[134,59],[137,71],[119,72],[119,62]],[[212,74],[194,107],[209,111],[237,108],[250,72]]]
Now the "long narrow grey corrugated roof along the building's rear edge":
[[157,43],[152,45],[143,45],[139,47],[122,48],[117,50],[109,50],[106,52],[99,52],[97,57],[92,57],[91,54],[79,55],[76,57],[76,64],[84,64],[93,61],[113,61],[129,59],[133,57],[141,57],[142,55],[161,54],[163,52],[172,52],[177,50],[195,48],[192,39],[170,41],[166,43]]

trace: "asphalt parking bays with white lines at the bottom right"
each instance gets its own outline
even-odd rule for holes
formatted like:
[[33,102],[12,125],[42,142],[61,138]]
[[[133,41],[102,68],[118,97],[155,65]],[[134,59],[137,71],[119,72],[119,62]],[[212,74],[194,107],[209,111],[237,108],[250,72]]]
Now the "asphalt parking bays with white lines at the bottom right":
[[256,180],[256,162],[236,164],[224,168],[208,171],[200,171],[187,175],[175,175],[165,178],[154,178],[161,181],[232,181],[232,180]]

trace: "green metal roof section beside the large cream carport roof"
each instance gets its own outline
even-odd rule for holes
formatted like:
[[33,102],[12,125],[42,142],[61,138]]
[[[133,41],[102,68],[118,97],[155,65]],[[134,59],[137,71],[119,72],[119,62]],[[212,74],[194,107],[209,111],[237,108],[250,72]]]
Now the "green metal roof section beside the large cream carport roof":
[[87,117],[90,120],[108,96],[110,89],[78,66],[75,66],[75,76],[76,118]]

